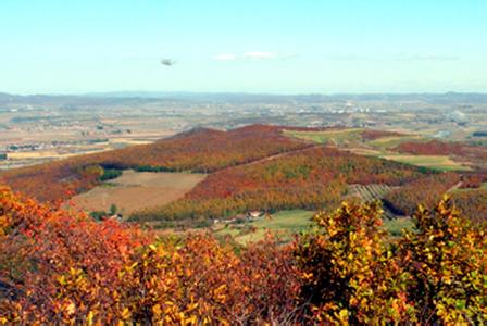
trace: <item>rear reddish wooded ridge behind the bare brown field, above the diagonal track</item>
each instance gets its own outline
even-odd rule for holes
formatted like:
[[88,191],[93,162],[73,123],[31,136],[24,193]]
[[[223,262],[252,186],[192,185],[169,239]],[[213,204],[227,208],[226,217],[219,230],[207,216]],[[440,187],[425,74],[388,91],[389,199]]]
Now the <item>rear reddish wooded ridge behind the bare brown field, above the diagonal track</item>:
[[14,190],[52,201],[92,188],[109,168],[208,173],[310,146],[282,136],[273,126],[196,129],[150,145],[1,172],[0,179]]

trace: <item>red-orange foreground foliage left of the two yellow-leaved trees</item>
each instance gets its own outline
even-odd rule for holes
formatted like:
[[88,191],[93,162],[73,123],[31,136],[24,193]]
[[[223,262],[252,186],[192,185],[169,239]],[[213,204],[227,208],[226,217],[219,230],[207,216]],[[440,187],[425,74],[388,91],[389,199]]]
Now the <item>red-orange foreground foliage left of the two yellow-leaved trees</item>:
[[[0,324],[260,323],[298,317],[290,248],[239,255],[208,235],[161,239],[0,191]],[[149,244],[149,242],[152,242]]]

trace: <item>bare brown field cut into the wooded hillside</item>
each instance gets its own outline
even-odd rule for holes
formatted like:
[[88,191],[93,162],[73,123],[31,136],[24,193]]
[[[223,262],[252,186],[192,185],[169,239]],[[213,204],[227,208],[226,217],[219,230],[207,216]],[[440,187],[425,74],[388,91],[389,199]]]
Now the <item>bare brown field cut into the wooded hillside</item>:
[[153,173],[124,171],[85,193],[73,197],[73,205],[87,212],[108,211],[112,204],[124,216],[145,208],[163,205],[182,198],[205,178],[196,173]]

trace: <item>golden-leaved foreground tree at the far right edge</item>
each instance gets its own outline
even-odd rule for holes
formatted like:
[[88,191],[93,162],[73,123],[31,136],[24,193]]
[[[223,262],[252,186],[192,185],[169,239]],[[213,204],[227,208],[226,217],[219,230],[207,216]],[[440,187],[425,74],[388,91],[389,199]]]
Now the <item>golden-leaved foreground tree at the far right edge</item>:
[[460,216],[450,197],[420,206],[415,229],[399,244],[415,321],[477,324],[487,321],[487,238]]

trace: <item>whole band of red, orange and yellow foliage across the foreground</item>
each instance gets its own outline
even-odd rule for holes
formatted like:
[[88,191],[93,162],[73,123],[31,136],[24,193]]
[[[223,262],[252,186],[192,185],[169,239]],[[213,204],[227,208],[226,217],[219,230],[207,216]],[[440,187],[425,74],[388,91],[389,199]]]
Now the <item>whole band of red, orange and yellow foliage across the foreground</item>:
[[0,324],[482,324],[483,230],[449,199],[385,241],[378,204],[344,203],[282,246],[157,239],[0,189]]

